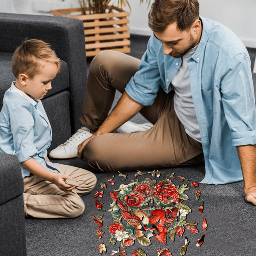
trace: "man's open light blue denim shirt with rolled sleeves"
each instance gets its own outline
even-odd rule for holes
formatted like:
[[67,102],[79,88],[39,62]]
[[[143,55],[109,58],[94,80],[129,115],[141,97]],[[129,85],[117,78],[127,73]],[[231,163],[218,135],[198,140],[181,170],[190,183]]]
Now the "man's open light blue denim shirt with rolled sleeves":
[[[256,144],[256,111],[250,57],[242,42],[222,24],[200,17],[203,31],[188,60],[192,98],[198,119],[208,184],[243,179],[236,146]],[[154,102],[159,86],[168,93],[181,58],[163,54],[153,35],[139,71],[125,90],[145,106]]]

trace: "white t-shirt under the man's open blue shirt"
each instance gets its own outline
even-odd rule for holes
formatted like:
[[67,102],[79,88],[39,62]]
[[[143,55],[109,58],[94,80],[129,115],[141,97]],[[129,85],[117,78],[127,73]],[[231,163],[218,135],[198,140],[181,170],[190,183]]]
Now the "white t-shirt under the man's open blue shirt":
[[177,74],[174,76],[171,85],[174,89],[174,110],[176,115],[184,125],[186,133],[191,138],[201,143],[188,72],[188,59],[194,54],[197,46],[189,50],[182,57],[182,64],[180,65]]

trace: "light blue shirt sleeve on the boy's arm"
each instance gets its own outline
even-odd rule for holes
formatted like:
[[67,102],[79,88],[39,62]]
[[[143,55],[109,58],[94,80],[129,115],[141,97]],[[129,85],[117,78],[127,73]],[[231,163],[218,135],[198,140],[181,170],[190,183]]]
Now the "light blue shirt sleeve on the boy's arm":
[[34,119],[31,104],[14,104],[10,109],[10,127],[14,140],[15,155],[24,162],[38,154],[34,145]]

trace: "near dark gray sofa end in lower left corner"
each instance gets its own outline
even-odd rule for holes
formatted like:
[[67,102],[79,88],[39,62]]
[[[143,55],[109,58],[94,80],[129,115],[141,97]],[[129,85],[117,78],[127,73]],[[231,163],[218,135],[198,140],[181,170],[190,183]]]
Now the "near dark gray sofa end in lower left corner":
[[0,153],[0,255],[26,255],[23,179],[18,158]]

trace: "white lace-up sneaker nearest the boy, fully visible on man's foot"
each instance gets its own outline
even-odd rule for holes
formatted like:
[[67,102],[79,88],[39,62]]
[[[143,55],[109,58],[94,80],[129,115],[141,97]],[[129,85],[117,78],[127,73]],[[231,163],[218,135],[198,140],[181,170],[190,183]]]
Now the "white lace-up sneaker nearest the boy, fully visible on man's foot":
[[77,157],[77,147],[84,140],[90,138],[90,129],[82,126],[71,138],[57,148],[53,149],[49,156],[52,158],[74,158]]

